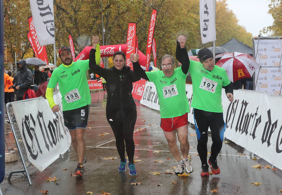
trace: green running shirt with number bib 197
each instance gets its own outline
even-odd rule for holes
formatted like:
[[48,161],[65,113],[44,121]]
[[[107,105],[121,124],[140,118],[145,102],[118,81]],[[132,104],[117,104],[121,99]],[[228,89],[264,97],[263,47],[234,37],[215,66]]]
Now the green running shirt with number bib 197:
[[222,86],[230,83],[226,71],[217,65],[212,71],[208,71],[200,62],[190,60],[189,72],[193,88],[191,107],[207,112],[222,113]]

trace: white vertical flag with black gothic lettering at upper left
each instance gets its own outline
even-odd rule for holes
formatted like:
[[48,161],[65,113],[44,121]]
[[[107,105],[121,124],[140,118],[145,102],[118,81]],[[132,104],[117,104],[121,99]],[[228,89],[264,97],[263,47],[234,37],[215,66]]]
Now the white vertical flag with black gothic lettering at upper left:
[[53,0],[29,0],[34,27],[41,46],[55,43]]

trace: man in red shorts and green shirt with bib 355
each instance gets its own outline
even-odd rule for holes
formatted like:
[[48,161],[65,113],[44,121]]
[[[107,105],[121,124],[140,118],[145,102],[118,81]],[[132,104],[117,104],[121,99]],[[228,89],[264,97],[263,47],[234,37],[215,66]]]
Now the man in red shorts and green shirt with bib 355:
[[[184,48],[184,40],[178,39],[180,46]],[[174,58],[170,55],[164,55],[161,60],[162,71],[144,72],[138,61],[135,62],[135,58],[138,58],[138,54],[131,54],[130,60],[133,61],[133,71],[136,71],[141,78],[152,81],[156,86],[160,107],[160,126],[164,130],[170,152],[177,160],[175,173],[182,174],[184,169],[187,173],[192,173],[191,160],[188,159],[187,113],[189,113],[189,104],[185,93],[185,79],[189,66],[182,65],[174,69]],[[177,138],[180,142],[183,159],[181,159],[179,148],[176,145]]]

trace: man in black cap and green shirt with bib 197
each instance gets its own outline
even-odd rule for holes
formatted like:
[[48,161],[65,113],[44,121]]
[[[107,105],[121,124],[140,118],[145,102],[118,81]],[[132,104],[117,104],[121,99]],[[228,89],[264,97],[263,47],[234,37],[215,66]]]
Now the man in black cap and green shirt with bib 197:
[[[186,37],[180,35],[178,39],[186,42]],[[182,43],[183,44],[183,43]],[[198,52],[200,62],[189,60],[185,47],[177,42],[176,58],[183,65],[189,67],[192,78],[193,99],[191,107],[194,108],[194,121],[198,139],[197,150],[202,163],[201,176],[209,176],[207,165],[207,140],[208,128],[212,133],[212,153],[209,158],[212,173],[219,174],[217,166],[217,155],[222,148],[222,140],[226,124],[223,120],[222,109],[222,86],[225,86],[225,93],[230,102],[233,101],[233,88],[226,71],[214,65],[212,52],[201,49]]]

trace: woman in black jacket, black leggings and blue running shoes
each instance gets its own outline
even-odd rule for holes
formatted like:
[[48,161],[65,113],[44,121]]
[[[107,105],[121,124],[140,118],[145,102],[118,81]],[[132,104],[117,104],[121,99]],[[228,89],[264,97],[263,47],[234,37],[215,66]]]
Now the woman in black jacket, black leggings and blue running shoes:
[[[116,146],[120,156],[119,172],[124,172],[126,167],[125,148],[128,155],[128,168],[130,175],[136,175],[133,163],[134,141],[133,130],[137,118],[136,104],[132,98],[132,83],[140,80],[128,66],[123,52],[113,55],[114,66],[110,69],[101,68],[95,63],[95,49],[89,53],[89,68],[103,77],[107,82],[107,121],[112,127],[116,138]],[[124,141],[125,145],[124,146]]]

